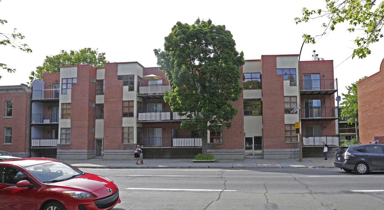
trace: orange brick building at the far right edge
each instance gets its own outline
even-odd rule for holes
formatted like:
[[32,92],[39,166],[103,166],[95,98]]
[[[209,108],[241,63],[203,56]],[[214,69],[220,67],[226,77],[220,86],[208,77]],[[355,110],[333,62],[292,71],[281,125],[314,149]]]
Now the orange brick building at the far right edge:
[[384,59],[380,71],[357,83],[359,108],[359,140],[384,143]]

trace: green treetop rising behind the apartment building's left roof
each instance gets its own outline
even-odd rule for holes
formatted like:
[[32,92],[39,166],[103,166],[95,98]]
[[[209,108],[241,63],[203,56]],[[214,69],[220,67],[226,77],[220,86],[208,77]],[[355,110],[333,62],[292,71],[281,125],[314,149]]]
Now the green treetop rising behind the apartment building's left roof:
[[60,72],[60,66],[91,64],[94,67],[103,67],[104,63],[108,63],[105,58],[105,52],[99,53],[97,50],[84,48],[79,49],[79,51],[70,50],[69,53],[61,50],[60,54],[47,55],[43,65],[36,67],[36,70],[31,72],[29,84],[32,84],[32,81],[36,79],[42,80],[43,72]]

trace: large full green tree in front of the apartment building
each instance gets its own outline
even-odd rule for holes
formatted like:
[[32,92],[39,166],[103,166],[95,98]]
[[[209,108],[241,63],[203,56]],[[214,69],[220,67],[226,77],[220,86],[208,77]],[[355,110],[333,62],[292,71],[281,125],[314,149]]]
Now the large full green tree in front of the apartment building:
[[230,31],[211,20],[197,19],[192,25],[177,22],[164,39],[164,51],[154,50],[169,80],[164,100],[172,111],[189,118],[181,127],[200,134],[205,155],[208,130],[220,130],[220,125],[230,128],[237,114],[231,102],[242,90],[243,52],[237,52]]

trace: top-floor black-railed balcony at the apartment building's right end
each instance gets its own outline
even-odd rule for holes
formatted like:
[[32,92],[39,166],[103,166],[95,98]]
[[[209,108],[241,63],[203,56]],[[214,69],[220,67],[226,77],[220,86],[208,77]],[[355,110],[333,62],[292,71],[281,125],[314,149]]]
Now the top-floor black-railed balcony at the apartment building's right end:
[[300,94],[333,94],[338,90],[337,79],[300,80]]

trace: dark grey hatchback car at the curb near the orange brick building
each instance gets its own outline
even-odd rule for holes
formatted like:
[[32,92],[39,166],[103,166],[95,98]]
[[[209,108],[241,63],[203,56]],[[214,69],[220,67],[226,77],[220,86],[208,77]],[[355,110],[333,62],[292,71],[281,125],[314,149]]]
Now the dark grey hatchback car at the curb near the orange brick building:
[[383,144],[341,146],[335,153],[334,166],[356,174],[384,171],[383,151]]

